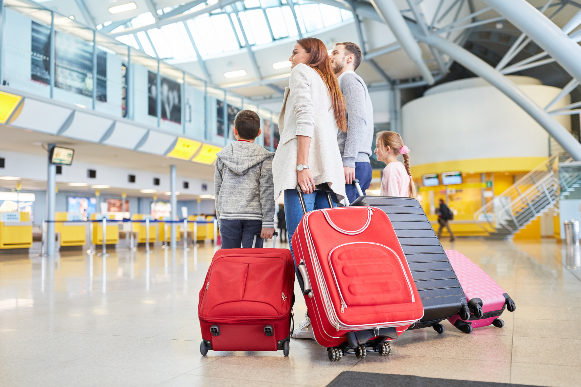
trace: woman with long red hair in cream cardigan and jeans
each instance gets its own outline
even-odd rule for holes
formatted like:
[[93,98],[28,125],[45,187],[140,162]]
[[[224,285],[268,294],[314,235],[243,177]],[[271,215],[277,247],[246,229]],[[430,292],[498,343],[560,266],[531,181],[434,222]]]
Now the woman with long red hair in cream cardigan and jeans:
[[[333,204],[345,197],[343,160],[338,130],[347,131],[345,99],[331,67],[325,44],[317,38],[297,40],[289,58],[289,87],[285,89],[278,126],[281,140],[272,160],[275,199],[284,191],[286,230],[292,235],[303,217],[296,193],[299,184],[307,211],[327,208],[327,197],[314,191],[327,183]],[[303,321],[293,338],[314,337],[310,320]]]

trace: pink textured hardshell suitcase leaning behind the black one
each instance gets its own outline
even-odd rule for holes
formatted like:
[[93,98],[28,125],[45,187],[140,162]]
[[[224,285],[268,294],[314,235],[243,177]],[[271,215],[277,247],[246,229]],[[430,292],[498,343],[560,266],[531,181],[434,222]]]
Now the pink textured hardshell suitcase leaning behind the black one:
[[458,314],[454,314],[448,321],[464,333],[472,332],[472,328],[487,327],[490,324],[502,328],[504,321],[498,316],[505,308],[508,311],[517,309],[514,301],[494,279],[490,278],[490,275],[465,255],[456,250],[444,251],[464,289],[470,309],[468,321],[462,320]]

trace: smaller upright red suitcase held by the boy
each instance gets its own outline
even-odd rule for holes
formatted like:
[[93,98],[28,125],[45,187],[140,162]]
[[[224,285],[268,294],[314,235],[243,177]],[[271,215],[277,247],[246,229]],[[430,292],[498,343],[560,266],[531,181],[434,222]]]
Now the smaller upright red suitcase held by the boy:
[[287,356],[294,286],[288,249],[218,250],[199,296],[202,355],[282,349]]

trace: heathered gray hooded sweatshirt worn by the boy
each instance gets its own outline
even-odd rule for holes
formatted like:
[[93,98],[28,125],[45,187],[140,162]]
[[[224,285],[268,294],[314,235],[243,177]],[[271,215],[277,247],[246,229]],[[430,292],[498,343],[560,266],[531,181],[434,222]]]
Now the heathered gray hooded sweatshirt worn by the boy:
[[262,221],[263,228],[274,227],[274,153],[253,142],[235,141],[217,156],[214,187],[218,220],[252,219]]

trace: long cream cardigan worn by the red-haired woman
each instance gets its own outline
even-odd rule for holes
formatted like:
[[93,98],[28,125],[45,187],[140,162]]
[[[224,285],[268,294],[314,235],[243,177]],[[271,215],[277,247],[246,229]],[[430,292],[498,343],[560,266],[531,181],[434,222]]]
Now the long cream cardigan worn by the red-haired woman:
[[311,137],[309,169],[315,184],[329,183],[339,200],[345,197],[345,173],[337,143],[339,128],[331,108],[327,85],[306,64],[290,71],[282,110],[278,116],[281,140],[272,160],[274,196],[297,185],[297,135]]

